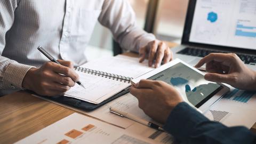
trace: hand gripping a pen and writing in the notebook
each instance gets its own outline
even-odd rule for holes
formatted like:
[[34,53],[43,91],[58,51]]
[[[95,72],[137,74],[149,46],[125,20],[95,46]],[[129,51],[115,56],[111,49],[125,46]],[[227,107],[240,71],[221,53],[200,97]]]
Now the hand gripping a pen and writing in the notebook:
[[78,74],[70,61],[58,60],[61,65],[46,62],[40,68],[31,68],[23,79],[22,87],[40,95],[54,96],[65,93],[78,81]]

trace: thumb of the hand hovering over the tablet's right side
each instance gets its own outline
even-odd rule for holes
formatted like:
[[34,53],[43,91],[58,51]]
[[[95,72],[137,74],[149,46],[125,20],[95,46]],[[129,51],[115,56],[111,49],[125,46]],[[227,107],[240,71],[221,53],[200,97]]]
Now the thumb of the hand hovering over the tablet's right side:
[[230,83],[231,78],[229,75],[209,73],[204,76],[206,81],[216,82],[216,83]]

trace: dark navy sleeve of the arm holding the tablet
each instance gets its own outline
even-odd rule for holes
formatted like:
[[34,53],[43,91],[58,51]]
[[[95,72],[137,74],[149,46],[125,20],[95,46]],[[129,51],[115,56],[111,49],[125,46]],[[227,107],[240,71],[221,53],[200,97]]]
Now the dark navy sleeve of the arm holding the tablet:
[[246,127],[210,121],[186,102],[172,110],[164,129],[181,143],[256,143],[256,135]]

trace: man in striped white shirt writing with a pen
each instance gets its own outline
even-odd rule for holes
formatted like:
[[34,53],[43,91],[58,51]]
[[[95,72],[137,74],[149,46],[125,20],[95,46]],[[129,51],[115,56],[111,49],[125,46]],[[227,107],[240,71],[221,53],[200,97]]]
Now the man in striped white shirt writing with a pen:
[[[169,47],[138,28],[126,0],[0,1],[0,90],[28,89],[58,95],[75,85],[75,66],[86,60],[86,46],[97,20],[125,50],[139,52],[149,66],[172,59]],[[37,51],[41,45],[62,66]],[[66,61],[63,61],[66,60]],[[73,62],[73,63],[72,63]],[[63,75],[59,75],[63,74]]]

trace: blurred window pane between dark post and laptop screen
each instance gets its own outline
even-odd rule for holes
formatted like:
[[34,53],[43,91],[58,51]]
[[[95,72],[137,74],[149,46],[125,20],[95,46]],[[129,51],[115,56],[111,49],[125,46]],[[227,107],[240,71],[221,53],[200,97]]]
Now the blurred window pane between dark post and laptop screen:
[[188,0],[159,0],[155,34],[164,41],[179,41],[182,37]]

